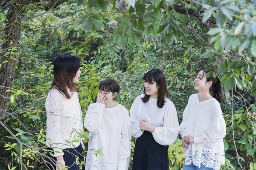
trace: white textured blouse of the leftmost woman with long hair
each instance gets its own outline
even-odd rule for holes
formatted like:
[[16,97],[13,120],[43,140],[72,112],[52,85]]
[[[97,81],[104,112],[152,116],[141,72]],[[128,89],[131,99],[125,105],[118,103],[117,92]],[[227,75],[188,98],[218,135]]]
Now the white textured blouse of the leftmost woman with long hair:
[[62,149],[78,147],[80,143],[84,148],[82,139],[79,138],[84,127],[78,94],[70,92],[70,95],[71,99],[67,99],[57,89],[52,89],[45,102],[46,145],[54,150],[53,156],[64,155]]

